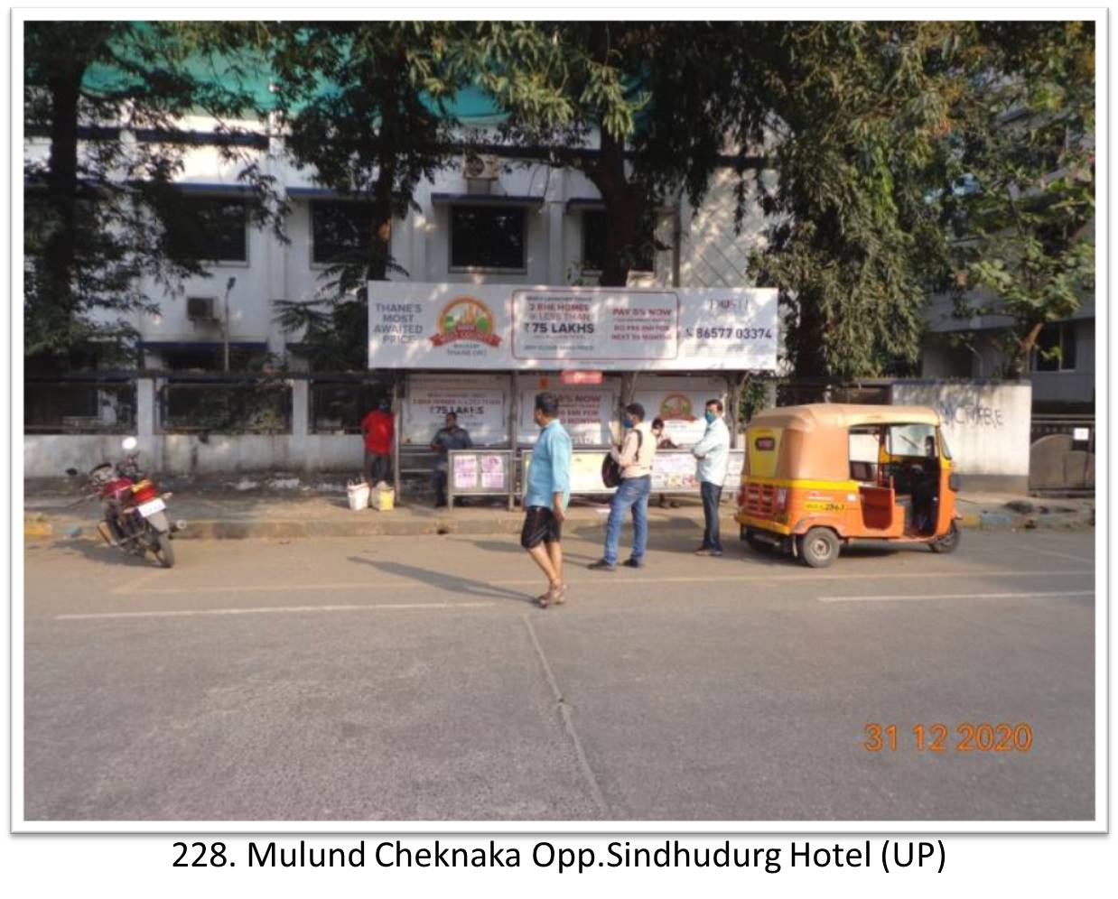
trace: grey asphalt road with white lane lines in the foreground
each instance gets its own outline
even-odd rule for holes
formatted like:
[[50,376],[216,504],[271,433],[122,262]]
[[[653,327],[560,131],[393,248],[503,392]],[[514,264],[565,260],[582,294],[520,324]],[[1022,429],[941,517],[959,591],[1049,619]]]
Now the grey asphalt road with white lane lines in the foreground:
[[598,533],[549,610],[512,537],[28,543],[26,817],[1092,817],[1092,533],[614,574]]

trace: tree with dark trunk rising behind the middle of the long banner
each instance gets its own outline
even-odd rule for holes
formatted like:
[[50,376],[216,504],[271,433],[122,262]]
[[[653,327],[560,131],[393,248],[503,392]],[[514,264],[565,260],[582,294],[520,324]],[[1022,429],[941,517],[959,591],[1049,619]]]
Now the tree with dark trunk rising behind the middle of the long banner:
[[[760,109],[722,60],[747,58],[762,29],[704,22],[479,23],[461,46],[509,114],[502,137],[542,144],[581,171],[606,210],[600,283],[623,286],[652,248],[657,210],[747,155]],[[685,86],[685,88],[684,88]]]

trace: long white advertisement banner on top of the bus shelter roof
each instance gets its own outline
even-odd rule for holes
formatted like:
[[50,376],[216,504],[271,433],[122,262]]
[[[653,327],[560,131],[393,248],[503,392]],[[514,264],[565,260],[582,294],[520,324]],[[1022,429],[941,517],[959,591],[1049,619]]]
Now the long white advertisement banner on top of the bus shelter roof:
[[369,281],[370,369],[775,371],[774,289]]

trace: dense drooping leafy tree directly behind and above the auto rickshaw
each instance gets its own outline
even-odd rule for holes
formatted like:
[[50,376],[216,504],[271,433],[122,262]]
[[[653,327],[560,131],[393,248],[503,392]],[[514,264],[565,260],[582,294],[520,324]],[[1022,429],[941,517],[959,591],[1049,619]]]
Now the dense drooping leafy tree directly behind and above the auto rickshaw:
[[942,181],[965,42],[951,22],[796,22],[754,80],[778,181],[751,270],[780,290],[803,377],[880,375],[919,353],[946,270]]

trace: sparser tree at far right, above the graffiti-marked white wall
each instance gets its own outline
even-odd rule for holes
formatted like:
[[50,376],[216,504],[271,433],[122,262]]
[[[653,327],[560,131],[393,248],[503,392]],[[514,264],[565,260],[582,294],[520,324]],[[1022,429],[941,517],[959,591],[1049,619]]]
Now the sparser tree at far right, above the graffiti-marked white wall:
[[1021,377],[1044,325],[1093,289],[1095,30],[998,22],[982,38],[942,208],[957,314],[1010,316],[1003,373]]

